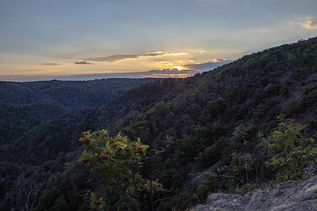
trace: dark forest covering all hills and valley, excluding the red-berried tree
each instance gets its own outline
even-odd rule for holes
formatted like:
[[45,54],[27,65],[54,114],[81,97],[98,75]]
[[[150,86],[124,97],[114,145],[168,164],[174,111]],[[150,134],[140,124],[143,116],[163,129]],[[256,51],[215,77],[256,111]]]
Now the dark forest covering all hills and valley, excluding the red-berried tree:
[[[91,193],[104,180],[80,159],[79,139],[103,129],[108,143],[121,132],[149,146],[138,173],[166,191],[139,210],[154,200],[154,210],[183,211],[212,192],[301,179],[294,172],[316,161],[317,38],[185,79],[0,82],[0,99],[1,211],[101,209]],[[279,155],[303,165],[277,169]],[[135,209],[115,186],[103,196],[104,210]]]

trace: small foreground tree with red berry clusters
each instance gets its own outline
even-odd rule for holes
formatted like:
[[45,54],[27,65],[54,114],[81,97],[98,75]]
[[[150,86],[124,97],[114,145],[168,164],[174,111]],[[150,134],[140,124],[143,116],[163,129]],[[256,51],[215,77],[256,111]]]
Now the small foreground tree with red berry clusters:
[[[140,138],[131,141],[120,133],[112,138],[106,130],[83,132],[79,140],[87,147],[81,155],[81,162],[91,167],[102,183],[100,196],[91,193],[92,207],[103,208],[106,204],[103,200],[105,191],[118,189],[135,210],[141,211],[142,204],[150,198],[147,204],[151,204],[154,211],[154,205],[160,201],[154,201],[154,194],[164,189],[158,180],[154,180],[154,171],[149,179],[142,178],[142,163],[165,149],[153,150],[146,157],[149,145],[142,144]],[[166,140],[166,146],[169,143]]]

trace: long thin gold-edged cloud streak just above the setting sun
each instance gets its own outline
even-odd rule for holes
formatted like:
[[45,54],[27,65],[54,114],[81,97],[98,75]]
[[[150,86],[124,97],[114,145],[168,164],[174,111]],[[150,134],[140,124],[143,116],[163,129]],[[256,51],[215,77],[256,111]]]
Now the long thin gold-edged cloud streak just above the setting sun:
[[159,56],[169,56],[169,55],[182,55],[187,53],[169,53],[169,52],[153,52],[153,53],[144,53],[144,54],[131,54],[131,55],[112,55],[112,56],[106,56],[106,57],[91,57],[83,60],[87,61],[95,61],[95,62],[116,62],[123,59],[136,59],[136,58],[145,58],[145,57],[159,57]]

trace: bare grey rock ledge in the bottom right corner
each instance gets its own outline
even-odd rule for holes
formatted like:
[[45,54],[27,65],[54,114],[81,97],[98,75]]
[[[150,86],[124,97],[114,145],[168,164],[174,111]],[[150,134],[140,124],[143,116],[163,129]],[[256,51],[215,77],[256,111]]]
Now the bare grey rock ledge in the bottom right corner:
[[194,211],[316,211],[317,176],[306,181],[287,181],[257,189],[243,197],[215,193]]

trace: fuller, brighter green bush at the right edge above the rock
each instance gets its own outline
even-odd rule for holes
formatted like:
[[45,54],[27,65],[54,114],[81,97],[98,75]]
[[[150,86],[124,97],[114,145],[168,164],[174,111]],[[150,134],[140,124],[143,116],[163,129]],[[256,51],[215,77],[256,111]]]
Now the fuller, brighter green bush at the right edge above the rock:
[[317,145],[306,137],[306,126],[278,116],[279,124],[267,139],[270,159],[266,166],[277,182],[302,179],[303,169],[317,161]]

